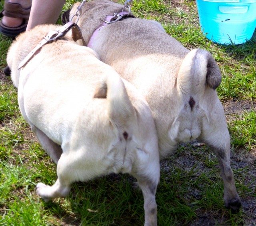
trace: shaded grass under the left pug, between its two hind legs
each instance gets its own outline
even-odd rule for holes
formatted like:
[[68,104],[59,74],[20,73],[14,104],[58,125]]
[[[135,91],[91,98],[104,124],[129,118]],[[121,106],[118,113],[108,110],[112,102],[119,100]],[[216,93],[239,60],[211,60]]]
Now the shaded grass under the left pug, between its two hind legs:
[[61,225],[143,225],[144,200],[139,190],[132,190],[134,181],[126,174],[110,174],[74,183],[66,199],[41,202]]

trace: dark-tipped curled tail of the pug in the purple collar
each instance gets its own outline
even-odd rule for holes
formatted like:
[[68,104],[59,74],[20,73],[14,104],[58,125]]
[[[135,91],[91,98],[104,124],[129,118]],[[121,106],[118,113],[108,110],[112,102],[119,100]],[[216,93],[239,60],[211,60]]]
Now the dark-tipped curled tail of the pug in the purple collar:
[[221,82],[220,69],[206,50],[191,50],[180,66],[177,85],[182,93],[198,93],[206,87],[216,89]]

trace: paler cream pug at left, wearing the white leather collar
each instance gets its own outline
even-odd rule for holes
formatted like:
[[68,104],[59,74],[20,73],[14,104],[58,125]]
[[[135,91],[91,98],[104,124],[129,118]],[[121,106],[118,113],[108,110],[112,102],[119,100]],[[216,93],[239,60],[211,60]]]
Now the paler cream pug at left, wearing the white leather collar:
[[157,224],[160,178],[158,137],[148,103],[90,48],[70,32],[20,62],[50,30],[37,26],[8,50],[18,104],[44,150],[57,164],[53,186],[38,183],[44,200],[65,197],[71,184],[110,173],[129,173],[144,195],[145,225]]

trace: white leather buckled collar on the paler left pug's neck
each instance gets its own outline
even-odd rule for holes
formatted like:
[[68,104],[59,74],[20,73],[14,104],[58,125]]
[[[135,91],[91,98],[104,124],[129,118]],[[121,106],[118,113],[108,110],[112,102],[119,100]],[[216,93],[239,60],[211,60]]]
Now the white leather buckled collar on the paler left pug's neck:
[[64,26],[60,28],[60,30],[56,31],[50,31],[43,39],[42,41],[20,62],[18,69],[24,67],[36,54],[38,54],[41,50],[41,48],[58,38],[62,38],[65,34],[68,33],[70,29],[77,29],[78,34],[80,34],[80,39],[82,39],[83,44],[85,45],[84,39],[82,38],[82,34],[80,31],[80,28],[77,24],[73,22],[68,22]]

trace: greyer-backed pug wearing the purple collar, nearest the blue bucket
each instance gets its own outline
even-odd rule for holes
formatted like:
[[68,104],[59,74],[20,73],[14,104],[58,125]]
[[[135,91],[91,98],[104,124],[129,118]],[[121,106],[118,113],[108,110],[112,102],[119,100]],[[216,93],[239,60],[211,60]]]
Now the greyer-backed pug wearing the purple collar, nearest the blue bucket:
[[[64,12],[62,21],[71,20],[79,4]],[[222,78],[216,61],[205,50],[187,50],[156,21],[131,14],[119,20],[123,11],[128,10],[108,0],[86,2],[77,23],[86,45],[145,97],[156,124],[160,159],[178,143],[194,139],[212,148],[221,168],[224,204],[238,211],[230,135],[216,93]],[[115,22],[102,22],[113,13],[118,14]]]

